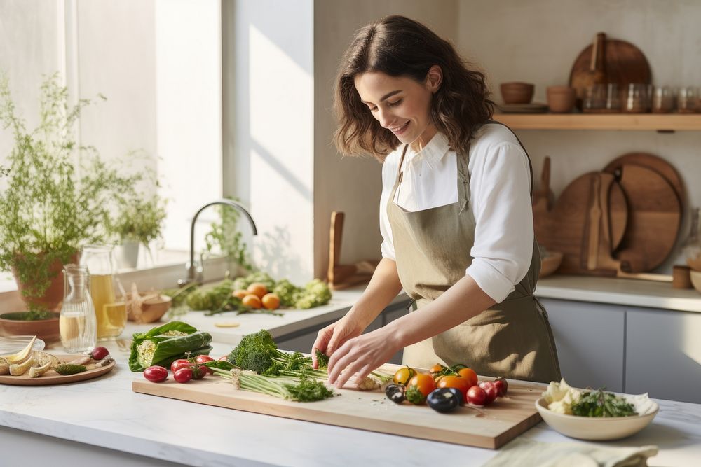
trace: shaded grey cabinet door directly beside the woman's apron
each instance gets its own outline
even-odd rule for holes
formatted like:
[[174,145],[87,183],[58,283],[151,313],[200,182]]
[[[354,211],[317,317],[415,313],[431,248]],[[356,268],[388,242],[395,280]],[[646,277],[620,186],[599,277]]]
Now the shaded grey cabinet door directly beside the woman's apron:
[[562,377],[576,387],[623,391],[625,309],[540,299],[555,338]]

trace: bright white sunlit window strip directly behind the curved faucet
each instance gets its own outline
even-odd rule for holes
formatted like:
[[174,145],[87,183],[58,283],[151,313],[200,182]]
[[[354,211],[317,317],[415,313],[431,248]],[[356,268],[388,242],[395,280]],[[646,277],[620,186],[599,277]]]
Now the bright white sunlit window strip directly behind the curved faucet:
[[[192,216],[222,196],[221,47],[219,2],[156,1],[158,175],[170,199],[166,249],[189,249]],[[198,219],[197,249],[215,212]]]

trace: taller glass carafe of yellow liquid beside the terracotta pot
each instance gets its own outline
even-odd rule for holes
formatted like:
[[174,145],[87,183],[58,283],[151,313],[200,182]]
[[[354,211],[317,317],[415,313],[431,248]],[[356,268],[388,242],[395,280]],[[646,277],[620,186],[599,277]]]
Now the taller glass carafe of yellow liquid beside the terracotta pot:
[[90,272],[90,295],[97,317],[97,340],[115,339],[127,323],[124,288],[116,275],[114,249],[106,245],[86,245],[81,265]]

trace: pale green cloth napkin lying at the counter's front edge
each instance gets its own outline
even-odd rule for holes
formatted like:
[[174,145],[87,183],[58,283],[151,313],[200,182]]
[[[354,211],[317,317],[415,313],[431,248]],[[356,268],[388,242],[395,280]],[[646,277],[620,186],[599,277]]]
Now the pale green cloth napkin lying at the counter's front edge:
[[484,467],[645,467],[657,446],[613,447],[580,442],[515,439]]

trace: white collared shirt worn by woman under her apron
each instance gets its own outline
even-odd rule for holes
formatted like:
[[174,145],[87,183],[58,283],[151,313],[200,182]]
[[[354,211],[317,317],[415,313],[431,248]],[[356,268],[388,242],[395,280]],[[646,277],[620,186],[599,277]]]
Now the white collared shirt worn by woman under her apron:
[[[381,253],[383,258],[392,260],[396,260],[396,256],[387,202],[403,150],[404,145],[400,145],[390,153],[382,167]],[[457,202],[457,157],[440,132],[418,153],[409,148],[394,202],[411,212]],[[531,265],[533,211],[528,158],[508,128],[484,125],[470,144],[468,172],[476,227],[475,243],[470,250],[472,264],[465,274],[475,279],[492,299],[501,302],[524,278]]]

